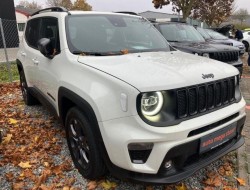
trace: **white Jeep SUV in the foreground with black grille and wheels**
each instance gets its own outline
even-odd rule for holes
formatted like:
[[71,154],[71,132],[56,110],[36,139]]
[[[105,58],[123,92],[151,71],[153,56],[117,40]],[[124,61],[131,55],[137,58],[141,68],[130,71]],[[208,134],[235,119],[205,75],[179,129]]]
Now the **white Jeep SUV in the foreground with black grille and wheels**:
[[86,178],[172,183],[244,143],[238,70],[176,51],[142,17],[41,10],[17,65],[25,103],[55,111]]

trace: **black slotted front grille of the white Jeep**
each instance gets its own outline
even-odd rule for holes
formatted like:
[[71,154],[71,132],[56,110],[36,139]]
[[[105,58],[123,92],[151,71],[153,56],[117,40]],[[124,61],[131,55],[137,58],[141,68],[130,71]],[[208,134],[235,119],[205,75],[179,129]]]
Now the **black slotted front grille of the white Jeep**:
[[178,118],[210,111],[235,100],[235,77],[179,89],[176,96]]

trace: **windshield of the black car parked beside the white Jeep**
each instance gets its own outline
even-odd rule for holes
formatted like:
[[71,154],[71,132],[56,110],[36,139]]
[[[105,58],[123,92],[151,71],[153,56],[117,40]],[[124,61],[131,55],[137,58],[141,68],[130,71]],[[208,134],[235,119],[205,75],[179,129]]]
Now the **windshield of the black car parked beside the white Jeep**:
[[160,30],[169,42],[205,42],[200,33],[190,25],[180,23],[160,24]]

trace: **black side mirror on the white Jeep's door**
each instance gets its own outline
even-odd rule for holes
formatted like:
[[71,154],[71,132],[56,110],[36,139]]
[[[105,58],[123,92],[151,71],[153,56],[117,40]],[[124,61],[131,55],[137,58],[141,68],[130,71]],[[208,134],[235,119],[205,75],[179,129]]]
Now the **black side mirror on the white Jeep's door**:
[[53,47],[51,45],[51,40],[48,38],[41,38],[37,42],[37,47],[39,51],[47,58],[53,59]]

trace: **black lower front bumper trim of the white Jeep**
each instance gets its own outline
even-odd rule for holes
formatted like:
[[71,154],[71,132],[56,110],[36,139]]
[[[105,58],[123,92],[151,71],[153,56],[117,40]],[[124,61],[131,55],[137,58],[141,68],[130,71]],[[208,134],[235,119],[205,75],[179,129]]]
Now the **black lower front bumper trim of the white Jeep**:
[[[185,150],[188,150],[190,148],[190,145],[192,146],[192,143],[195,143],[195,142],[191,142],[190,144],[189,143],[184,144],[182,148]],[[157,174],[136,173],[136,172],[123,170],[117,167],[116,168],[113,167],[111,173],[121,179],[129,179],[129,180],[136,181],[136,182],[147,182],[147,183],[155,183],[155,184],[176,183],[178,181],[181,181],[191,176],[197,170],[207,166],[208,164],[219,159],[225,154],[239,148],[243,144],[244,144],[243,137],[233,139],[225,147],[221,148],[220,150],[213,151],[211,156],[209,155],[197,156],[195,157],[196,162],[194,162],[193,164],[187,165],[182,168],[173,168],[172,170],[169,170],[169,171],[164,170],[164,168],[162,167]],[[191,158],[193,157],[190,157],[189,159]]]

